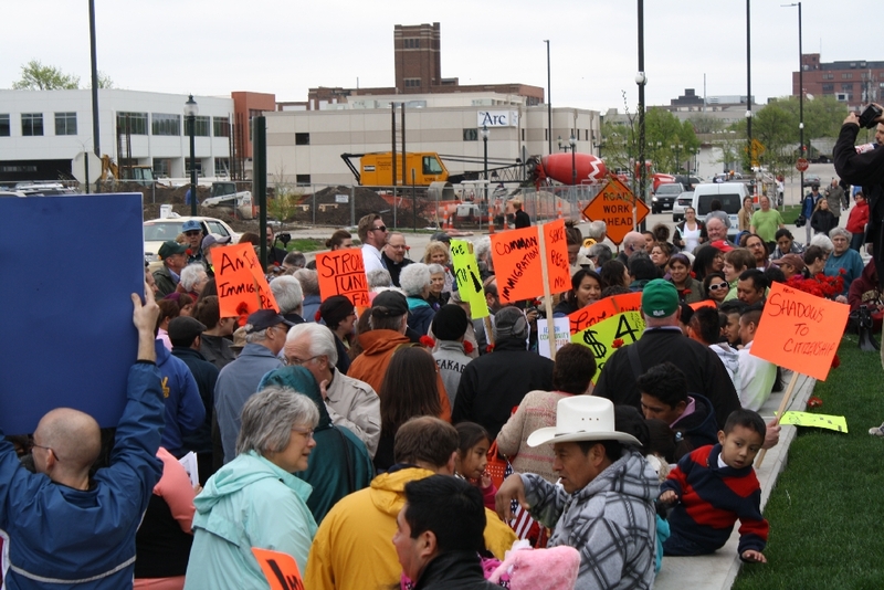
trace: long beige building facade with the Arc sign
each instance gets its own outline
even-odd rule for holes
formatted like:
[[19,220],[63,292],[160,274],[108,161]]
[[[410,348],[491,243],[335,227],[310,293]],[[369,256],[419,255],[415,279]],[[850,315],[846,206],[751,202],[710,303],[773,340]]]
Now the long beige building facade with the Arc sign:
[[[488,168],[515,165],[549,154],[573,135],[577,151],[597,154],[599,113],[552,108],[549,131],[546,105],[526,106],[523,97],[493,93],[444,95],[355,96],[323,110],[265,113],[267,175],[271,182],[352,185],[354,175],[341,154],[392,151],[391,103],[396,109],[396,150],[436,152],[451,175],[477,172],[484,166],[483,126],[488,129]],[[466,161],[460,161],[466,160]],[[354,162],[358,168],[358,161]]]

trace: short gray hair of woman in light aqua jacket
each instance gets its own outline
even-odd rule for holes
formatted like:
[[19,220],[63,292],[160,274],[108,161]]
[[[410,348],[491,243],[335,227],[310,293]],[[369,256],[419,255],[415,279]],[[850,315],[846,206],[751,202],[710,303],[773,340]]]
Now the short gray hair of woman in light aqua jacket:
[[313,400],[294,389],[269,386],[245,401],[240,420],[236,454],[254,451],[264,456],[288,446],[292,426],[316,428],[319,410]]

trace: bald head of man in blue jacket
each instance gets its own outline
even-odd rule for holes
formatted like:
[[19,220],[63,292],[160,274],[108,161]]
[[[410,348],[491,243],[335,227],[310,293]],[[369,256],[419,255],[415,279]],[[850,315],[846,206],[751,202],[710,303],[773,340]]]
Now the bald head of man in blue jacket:
[[[34,431],[34,465],[53,481],[56,472],[70,476],[88,473],[102,450],[98,423],[90,414],[71,408],[57,408],[40,420]],[[49,450],[54,461],[49,460]],[[61,482],[64,483],[64,482]]]

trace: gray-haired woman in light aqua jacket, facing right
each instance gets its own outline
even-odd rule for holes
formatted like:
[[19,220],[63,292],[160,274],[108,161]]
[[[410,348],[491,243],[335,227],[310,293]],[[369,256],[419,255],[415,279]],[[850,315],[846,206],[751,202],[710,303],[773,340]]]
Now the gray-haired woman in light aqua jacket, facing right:
[[292,473],[307,468],[318,420],[316,404],[288,388],[271,386],[249,398],[236,459],[193,502],[186,589],[267,588],[253,547],[291,555],[303,576],[316,534],[306,504],[313,488]]

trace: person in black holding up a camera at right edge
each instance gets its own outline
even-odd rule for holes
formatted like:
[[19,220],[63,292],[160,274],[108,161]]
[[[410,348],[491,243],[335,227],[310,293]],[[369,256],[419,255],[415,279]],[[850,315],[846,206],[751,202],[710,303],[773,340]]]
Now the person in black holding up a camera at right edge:
[[[855,143],[861,126],[867,129],[877,127],[876,140],[878,135],[884,134],[882,113],[881,106],[873,104],[866,107],[862,116],[849,114],[833,150],[838,175],[845,182],[861,186],[869,202],[865,242],[872,243],[872,257],[877,268],[884,268],[884,149],[876,143],[877,149],[860,154]],[[878,285],[884,288],[884,273],[878,273]]]

